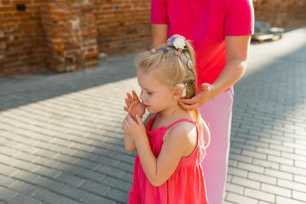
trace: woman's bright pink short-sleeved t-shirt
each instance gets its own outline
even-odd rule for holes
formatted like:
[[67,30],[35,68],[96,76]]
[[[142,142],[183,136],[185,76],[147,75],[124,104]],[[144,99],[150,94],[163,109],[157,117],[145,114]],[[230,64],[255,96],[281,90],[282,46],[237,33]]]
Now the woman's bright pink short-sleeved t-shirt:
[[198,85],[212,84],[225,66],[225,36],[253,34],[254,8],[252,0],[152,0],[151,23],[192,40]]

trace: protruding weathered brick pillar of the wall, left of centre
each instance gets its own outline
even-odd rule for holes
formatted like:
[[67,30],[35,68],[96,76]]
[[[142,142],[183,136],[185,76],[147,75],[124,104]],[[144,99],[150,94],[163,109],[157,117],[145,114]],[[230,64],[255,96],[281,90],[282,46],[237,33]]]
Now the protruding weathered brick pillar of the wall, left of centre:
[[41,7],[49,70],[66,72],[98,65],[92,0],[44,0]]

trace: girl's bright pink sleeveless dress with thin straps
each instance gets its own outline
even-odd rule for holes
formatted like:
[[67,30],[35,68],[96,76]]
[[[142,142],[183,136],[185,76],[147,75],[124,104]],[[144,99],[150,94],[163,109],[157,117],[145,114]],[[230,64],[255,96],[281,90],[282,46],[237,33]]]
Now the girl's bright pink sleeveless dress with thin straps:
[[[197,124],[189,119],[180,119],[168,127],[151,131],[156,115],[149,122],[146,130],[152,152],[157,158],[163,145],[163,136],[169,128],[182,121],[191,122],[196,127]],[[157,187],[147,179],[137,154],[128,204],[208,204],[199,141],[194,152],[188,158],[181,158],[173,175]]]

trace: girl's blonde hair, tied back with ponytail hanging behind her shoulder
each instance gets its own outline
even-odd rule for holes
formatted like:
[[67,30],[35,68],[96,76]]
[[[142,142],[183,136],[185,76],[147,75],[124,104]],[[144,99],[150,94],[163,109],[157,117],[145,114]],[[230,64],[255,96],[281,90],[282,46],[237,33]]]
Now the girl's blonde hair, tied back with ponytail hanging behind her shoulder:
[[[195,68],[195,51],[190,41],[185,41],[184,49],[174,46],[159,45],[151,51],[140,52],[135,58],[137,72],[139,70],[156,77],[161,83],[174,89],[178,84],[184,84],[186,95],[182,98],[192,98],[196,95],[197,72]],[[176,53],[175,53],[176,52]],[[177,53],[179,52],[179,54]],[[191,62],[188,62],[191,61]],[[205,157],[205,149],[210,143],[210,132],[197,109],[189,111],[197,123],[201,158]],[[206,135],[207,144],[204,142]]]

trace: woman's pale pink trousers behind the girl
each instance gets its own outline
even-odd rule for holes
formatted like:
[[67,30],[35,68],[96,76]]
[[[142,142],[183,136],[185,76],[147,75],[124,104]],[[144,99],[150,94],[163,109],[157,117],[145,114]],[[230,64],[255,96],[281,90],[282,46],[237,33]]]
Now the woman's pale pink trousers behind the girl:
[[210,127],[211,142],[202,161],[209,204],[222,204],[225,191],[234,91],[231,88],[198,110]]

